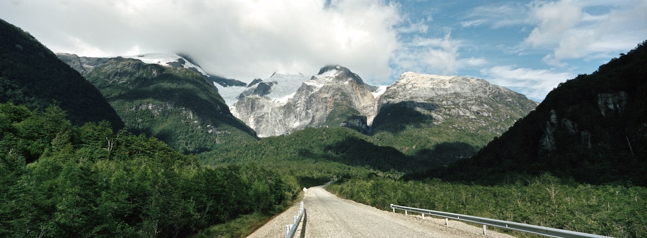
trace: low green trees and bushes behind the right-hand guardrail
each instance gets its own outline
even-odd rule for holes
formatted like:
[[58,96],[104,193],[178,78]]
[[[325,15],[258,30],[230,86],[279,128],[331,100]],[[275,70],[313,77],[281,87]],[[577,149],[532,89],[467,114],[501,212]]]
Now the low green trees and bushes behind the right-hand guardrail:
[[642,186],[569,184],[543,174],[497,186],[355,178],[328,190],[382,210],[393,203],[611,237],[647,237],[647,188]]

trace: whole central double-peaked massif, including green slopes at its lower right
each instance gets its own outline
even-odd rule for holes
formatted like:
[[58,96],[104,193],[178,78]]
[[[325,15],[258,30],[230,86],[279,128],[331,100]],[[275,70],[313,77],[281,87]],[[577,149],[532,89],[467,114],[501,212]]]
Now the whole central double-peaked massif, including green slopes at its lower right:
[[232,114],[260,137],[348,127],[428,161],[426,168],[474,155],[537,105],[483,79],[408,72],[377,87],[338,65],[314,76],[275,73],[220,90],[239,94],[228,97],[237,100]]

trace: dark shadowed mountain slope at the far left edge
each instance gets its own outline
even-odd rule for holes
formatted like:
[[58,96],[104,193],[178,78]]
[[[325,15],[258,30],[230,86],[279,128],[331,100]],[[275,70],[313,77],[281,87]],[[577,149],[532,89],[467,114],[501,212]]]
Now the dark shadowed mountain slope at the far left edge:
[[45,110],[57,104],[72,124],[124,123],[102,94],[32,35],[0,19],[0,103]]

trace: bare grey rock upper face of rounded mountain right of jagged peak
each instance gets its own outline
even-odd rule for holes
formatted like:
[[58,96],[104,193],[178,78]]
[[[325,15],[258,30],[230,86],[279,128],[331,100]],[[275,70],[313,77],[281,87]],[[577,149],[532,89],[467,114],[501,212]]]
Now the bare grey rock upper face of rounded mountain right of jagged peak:
[[470,122],[462,125],[465,129],[496,126],[501,128],[492,129],[503,132],[510,124],[492,121],[518,119],[536,105],[524,95],[483,79],[406,72],[378,98],[376,123],[397,107],[415,110],[433,124],[457,119]]

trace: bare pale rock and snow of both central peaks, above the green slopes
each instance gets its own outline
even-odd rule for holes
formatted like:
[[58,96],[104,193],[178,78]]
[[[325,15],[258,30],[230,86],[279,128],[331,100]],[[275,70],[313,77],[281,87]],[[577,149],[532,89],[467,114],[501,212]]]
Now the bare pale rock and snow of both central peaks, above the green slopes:
[[410,114],[430,126],[459,120],[456,128],[485,130],[494,136],[536,106],[523,95],[483,79],[407,72],[390,86],[370,86],[342,66],[325,66],[310,77],[277,73],[246,88],[225,87],[221,92],[241,92],[226,100],[235,101],[232,114],[259,137],[326,126],[374,134],[402,127],[400,123],[412,119]]

